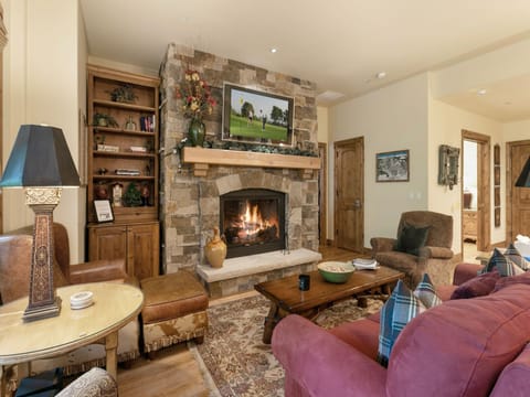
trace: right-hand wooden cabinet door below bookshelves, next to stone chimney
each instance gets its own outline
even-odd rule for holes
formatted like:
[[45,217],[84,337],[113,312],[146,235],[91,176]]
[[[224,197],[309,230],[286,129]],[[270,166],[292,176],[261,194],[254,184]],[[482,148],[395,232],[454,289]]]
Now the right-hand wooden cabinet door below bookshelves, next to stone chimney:
[[158,276],[158,223],[127,226],[127,272],[138,280]]

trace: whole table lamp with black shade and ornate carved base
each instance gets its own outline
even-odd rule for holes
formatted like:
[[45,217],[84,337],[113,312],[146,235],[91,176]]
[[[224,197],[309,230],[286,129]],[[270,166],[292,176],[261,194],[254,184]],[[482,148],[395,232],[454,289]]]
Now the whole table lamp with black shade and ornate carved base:
[[24,321],[55,316],[61,311],[61,298],[53,285],[53,210],[63,186],[78,185],[80,175],[63,131],[44,125],[21,126],[0,187],[25,187],[25,204],[35,214]]

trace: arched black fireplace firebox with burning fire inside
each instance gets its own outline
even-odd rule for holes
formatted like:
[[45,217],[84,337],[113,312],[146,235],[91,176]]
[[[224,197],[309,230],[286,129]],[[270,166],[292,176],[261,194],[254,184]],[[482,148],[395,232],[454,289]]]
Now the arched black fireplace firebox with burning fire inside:
[[285,193],[244,189],[221,195],[220,204],[227,258],[285,248]]

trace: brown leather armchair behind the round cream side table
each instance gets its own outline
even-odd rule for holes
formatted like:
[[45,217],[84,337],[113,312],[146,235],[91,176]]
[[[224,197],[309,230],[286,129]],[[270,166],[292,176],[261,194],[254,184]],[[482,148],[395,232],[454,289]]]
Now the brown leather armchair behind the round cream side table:
[[[53,224],[54,234],[54,286],[87,282],[127,282],[139,286],[126,271],[125,259],[96,260],[80,265],[70,264],[70,243],[66,228]],[[0,298],[3,303],[28,297],[30,290],[30,264],[33,226],[0,235]],[[67,304],[67,302],[63,302]],[[118,362],[134,360],[140,355],[139,322],[134,320],[118,333]],[[63,367],[65,375],[84,372],[93,366],[105,365],[105,347],[94,344],[75,350],[56,358],[32,363],[35,373]]]

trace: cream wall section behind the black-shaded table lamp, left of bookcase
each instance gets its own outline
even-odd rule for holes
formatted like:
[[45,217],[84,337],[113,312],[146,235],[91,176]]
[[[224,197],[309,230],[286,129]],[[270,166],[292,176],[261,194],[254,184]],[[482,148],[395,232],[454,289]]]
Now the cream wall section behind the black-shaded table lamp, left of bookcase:
[[[78,3],[71,0],[6,0],[9,43],[4,51],[3,159],[8,159],[20,125],[47,124],[63,129],[78,165],[80,46]],[[4,230],[33,223],[21,190],[4,191]],[[71,238],[71,258],[83,259],[84,193],[65,189],[54,221]]]

